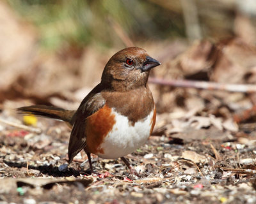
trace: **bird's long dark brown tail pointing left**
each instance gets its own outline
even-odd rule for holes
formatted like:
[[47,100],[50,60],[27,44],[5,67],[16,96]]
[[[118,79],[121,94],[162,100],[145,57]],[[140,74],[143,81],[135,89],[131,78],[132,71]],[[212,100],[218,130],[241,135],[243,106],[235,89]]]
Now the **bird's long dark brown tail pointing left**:
[[22,114],[33,114],[41,117],[49,117],[51,119],[58,119],[68,122],[71,126],[72,117],[75,110],[65,110],[63,108],[57,108],[54,106],[45,106],[45,105],[34,105],[34,106],[24,106],[17,108],[19,113]]

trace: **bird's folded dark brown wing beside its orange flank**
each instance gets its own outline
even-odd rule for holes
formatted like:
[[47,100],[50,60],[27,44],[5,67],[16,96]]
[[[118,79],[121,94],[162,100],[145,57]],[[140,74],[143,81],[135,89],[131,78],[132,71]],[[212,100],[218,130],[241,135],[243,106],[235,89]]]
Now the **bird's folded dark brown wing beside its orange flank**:
[[85,126],[86,118],[97,112],[106,101],[102,98],[101,85],[97,85],[82,101],[77,109],[72,122],[74,126],[71,131],[68,143],[68,162],[71,163],[74,156],[76,156],[86,146]]

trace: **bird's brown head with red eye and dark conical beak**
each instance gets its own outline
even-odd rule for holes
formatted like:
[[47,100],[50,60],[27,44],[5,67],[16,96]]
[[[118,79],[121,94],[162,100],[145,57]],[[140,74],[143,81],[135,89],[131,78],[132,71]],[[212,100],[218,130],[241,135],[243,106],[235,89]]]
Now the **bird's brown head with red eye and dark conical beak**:
[[116,91],[135,89],[147,85],[150,69],[159,65],[145,50],[138,47],[125,48],[109,59],[101,80]]

